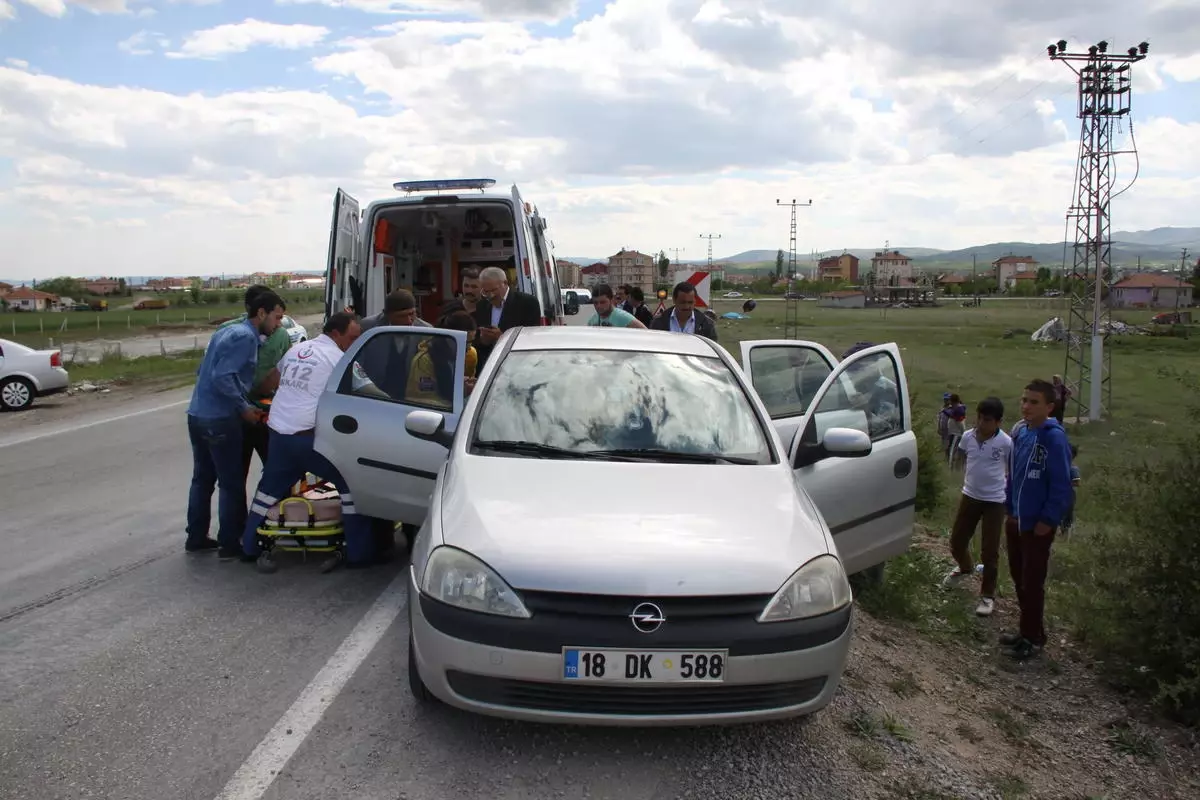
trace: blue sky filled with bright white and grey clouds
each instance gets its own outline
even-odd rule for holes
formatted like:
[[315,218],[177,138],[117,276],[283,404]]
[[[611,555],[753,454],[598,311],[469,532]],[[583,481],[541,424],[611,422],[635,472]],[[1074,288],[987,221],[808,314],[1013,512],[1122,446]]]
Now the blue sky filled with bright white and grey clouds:
[[320,270],[406,178],[516,182],[560,255],[787,247],[776,198],[802,252],[1058,241],[1058,38],[1150,41],[1115,227],[1196,225],[1195,4],[0,0],[0,276]]

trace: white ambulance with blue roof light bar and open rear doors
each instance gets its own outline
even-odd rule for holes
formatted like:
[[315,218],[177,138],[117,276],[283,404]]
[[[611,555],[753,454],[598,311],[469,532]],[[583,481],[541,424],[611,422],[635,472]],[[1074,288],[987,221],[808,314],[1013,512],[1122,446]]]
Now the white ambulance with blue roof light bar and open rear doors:
[[563,325],[554,252],[536,206],[488,192],[492,179],[402,181],[404,197],[365,210],[337,190],[325,266],[325,317],[350,307],[361,317],[383,311],[394,289],[416,295],[422,319],[462,288],[460,271],[499,266],[509,285],[538,297],[542,325]]

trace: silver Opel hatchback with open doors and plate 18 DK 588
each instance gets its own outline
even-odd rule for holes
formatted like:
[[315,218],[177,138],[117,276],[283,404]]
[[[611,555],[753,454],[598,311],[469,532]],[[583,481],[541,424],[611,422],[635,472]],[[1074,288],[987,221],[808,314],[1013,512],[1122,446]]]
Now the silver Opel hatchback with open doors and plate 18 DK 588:
[[460,331],[368,331],[318,411],[317,449],[359,511],[420,525],[418,698],[626,726],[830,702],[847,575],[912,534],[894,344],[839,363],[812,342],[745,342],[739,367],[696,336],[516,329],[469,397],[464,353]]

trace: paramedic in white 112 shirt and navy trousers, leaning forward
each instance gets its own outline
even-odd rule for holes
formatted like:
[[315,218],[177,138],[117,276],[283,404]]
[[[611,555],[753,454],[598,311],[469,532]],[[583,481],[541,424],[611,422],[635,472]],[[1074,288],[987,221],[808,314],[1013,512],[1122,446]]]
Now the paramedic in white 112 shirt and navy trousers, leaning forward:
[[[288,497],[306,473],[332,482],[342,495],[342,529],[346,533],[346,566],[368,566],[374,557],[371,523],[354,510],[349,487],[337,469],[313,450],[317,401],[342,354],[362,332],[353,314],[341,312],[325,323],[320,336],[294,344],[280,360],[280,387],[271,401],[266,425],[270,445],[258,482],[241,547],[247,557],[258,557],[258,528],[268,510]],[[274,571],[272,563],[259,565]]]

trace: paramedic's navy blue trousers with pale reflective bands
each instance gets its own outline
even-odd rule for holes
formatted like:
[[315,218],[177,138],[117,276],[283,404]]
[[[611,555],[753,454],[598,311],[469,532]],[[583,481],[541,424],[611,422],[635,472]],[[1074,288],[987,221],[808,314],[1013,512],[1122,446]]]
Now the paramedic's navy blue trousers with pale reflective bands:
[[313,450],[313,435],[286,434],[271,431],[266,446],[266,464],[263,477],[258,481],[258,491],[246,517],[246,527],[241,536],[241,549],[247,555],[258,555],[258,528],[266,519],[266,512],[272,505],[287,498],[292,487],[312,473],[317,477],[330,481],[342,495],[342,530],[346,533],[346,560],[350,564],[366,564],[374,557],[374,540],[371,536],[371,523],[354,509],[354,498],[337,468],[328,458]]

